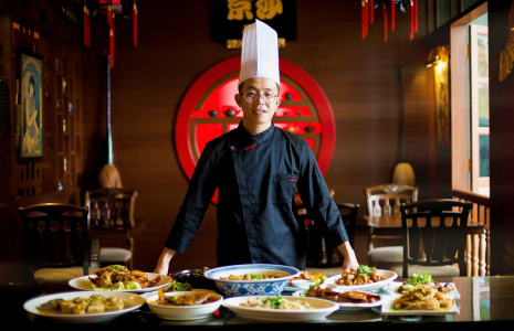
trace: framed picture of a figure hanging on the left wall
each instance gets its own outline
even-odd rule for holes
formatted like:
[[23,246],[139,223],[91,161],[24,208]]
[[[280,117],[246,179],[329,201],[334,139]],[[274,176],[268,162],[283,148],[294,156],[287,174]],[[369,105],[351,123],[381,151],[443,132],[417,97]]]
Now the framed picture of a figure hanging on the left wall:
[[19,49],[20,162],[43,160],[43,56]]

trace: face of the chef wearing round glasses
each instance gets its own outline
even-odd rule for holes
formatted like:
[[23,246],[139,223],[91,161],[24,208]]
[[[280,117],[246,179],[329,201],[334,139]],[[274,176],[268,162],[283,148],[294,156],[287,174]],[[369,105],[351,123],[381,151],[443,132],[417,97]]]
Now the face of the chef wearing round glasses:
[[[258,98],[255,102],[246,102],[244,93],[248,92],[256,94]],[[280,98],[276,97],[271,104],[266,104],[262,96],[276,96],[277,93],[276,83],[273,79],[254,77],[244,81],[242,94],[237,94],[234,98],[243,109],[243,126],[246,130],[252,134],[259,134],[271,126],[273,115],[275,115],[275,110],[280,105]]]

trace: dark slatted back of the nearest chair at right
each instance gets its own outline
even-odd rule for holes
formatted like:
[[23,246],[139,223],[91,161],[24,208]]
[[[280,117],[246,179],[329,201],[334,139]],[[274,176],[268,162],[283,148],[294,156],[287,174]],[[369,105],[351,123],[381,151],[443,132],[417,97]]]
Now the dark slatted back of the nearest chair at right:
[[450,199],[430,199],[400,206],[403,271],[409,277],[409,265],[459,266],[465,276],[468,217],[473,204]]

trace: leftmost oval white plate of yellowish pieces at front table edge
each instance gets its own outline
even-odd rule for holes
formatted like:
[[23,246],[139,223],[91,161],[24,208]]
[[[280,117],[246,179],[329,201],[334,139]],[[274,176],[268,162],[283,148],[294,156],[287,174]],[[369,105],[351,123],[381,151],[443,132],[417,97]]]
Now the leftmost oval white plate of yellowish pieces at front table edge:
[[117,318],[145,305],[129,292],[72,291],[41,296],[27,301],[27,312],[59,322],[99,322]]

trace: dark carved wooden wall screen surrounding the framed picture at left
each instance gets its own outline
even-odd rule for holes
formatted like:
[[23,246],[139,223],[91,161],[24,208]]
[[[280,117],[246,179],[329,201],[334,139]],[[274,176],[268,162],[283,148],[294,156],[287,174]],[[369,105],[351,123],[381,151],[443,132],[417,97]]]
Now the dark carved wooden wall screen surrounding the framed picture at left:
[[[19,128],[23,111],[20,100],[20,58],[17,56],[19,49],[43,56],[44,156],[42,161],[27,163],[20,162],[19,158]],[[32,23],[13,20],[12,54],[13,82],[9,85],[13,86],[10,90],[10,137],[13,148],[10,153],[0,153],[0,158],[7,162],[4,164],[12,164],[15,175],[9,185],[12,194],[2,193],[0,203],[59,191],[77,194],[82,177],[81,44],[71,36],[40,33]]]

